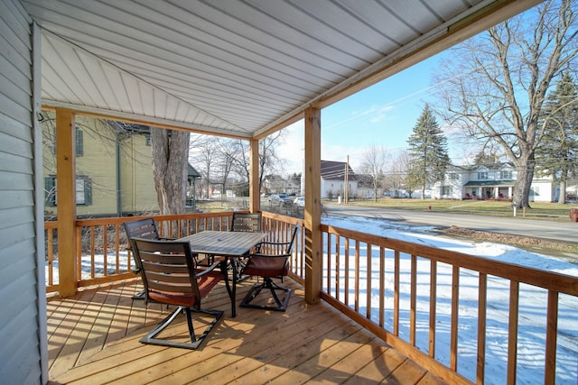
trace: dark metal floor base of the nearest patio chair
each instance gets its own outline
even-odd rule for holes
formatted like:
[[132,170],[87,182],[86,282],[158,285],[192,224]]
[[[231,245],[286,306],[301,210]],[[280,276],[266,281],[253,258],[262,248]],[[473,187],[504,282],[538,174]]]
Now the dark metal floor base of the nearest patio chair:
[[[187,318],[187,325],[189,326],[189,335],[191,337],[191,342],[190,343],[183,343],[183,342],[178,342],[178,341],[170,341],[170,340],[163,339],[163,338],[156,338],[157,335],[159,335],[161,332],[163,332],[163,330],[168,325],[170,325],[172,323],[172,321],[174,321],[174,319],[177,316],[179,316],[181,311],[185,314],[185,316]],[[211,316],[214,316],[213,320],[210,322],[209,325],[207,325],[207,327],[205,328],[205,331],[202,333],[202,335],[199,336],[199,338],[195,337],[195,332],[194,332],[194,328],[192,325],[191,312],[209,314]],[[205,337],[207,335],[209,335],[210,330],[215,325],[217,325],[217,322],[219,322],[219,319],[221,316],[223,316],[222,310],[203,310],[203,309],[196,309],[194,307],[177,307],[169,316],[164,318],[163,321],[159,325],[156,325],[153,330],[151,330],[147,335],[144,335],[144,337],[141,338],[140,342],[143,344],[155,344],[155,345],[161,345],[161,346],[180,347],[180,348],[192,349],[192,350],[198,349],[200,344],[202,344],[202,342],[204,341]]]

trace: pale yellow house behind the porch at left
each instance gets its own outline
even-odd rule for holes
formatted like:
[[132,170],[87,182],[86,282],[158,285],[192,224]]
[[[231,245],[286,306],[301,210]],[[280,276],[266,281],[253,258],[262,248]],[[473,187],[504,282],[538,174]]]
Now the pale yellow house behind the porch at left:
[[[44,212],[57,215],[53,126],[42,124],[42,135]],[[118,130],[100,119],[77,116],[76,156],[79,217],[132,215],[159,210],[149,127],[130,125]],[[194,186],[199,178],[199,173],[189,165],[188,194],[191,184]]]

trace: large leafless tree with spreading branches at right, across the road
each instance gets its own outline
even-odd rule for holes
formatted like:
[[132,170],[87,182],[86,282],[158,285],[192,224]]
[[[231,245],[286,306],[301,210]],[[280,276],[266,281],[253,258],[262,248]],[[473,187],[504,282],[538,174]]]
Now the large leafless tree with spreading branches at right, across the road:
[[441,66],[446,119],[499,143],[516,165],[518,208],[529,207],[546,92],[576,60],[576,17],[574,1],[546,1],[462,43]]

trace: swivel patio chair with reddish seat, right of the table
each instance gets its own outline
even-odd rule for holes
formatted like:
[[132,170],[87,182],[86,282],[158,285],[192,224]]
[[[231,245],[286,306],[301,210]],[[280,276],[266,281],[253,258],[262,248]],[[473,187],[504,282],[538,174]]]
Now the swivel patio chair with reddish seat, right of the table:
[[[243,274],[247,276],[262,277],[263,282],[254,285],[243,299],[241,307],[254,307],[267,310],[285,311],[291,297],[291,288],[277,285],[274,278],[281,279],[289,273],[290,261],[295,236],[299,227],[295,226],[291,239],[285,243],[264,242],[257,245],[257,252],[249,255],[247,265],[243,268]],[[270,305],[271,298],[264,300],[256,299],[263,289],[271,293],[275,305]],[[277,296],[276,291],[284,292],[283,302]],[[255,301],[255,302],[253,302]],[[258,301],[258,303],[257,303]]]

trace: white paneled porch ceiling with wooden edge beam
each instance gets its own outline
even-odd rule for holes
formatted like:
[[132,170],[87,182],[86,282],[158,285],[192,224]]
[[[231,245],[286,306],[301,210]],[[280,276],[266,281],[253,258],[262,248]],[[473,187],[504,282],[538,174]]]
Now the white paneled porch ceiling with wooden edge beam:
[[42,105],[259,138],[537,0],[23,0]]

